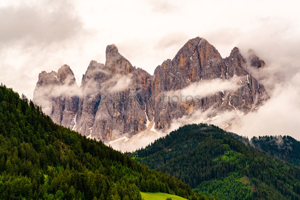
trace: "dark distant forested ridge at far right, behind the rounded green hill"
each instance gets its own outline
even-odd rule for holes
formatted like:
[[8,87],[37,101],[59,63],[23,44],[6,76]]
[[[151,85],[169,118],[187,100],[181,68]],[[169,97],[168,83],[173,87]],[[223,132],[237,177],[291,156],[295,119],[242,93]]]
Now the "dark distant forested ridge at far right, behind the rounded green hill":
[[250,144],[295,166],[300,166],[300,142],[291,136],[253,137]]

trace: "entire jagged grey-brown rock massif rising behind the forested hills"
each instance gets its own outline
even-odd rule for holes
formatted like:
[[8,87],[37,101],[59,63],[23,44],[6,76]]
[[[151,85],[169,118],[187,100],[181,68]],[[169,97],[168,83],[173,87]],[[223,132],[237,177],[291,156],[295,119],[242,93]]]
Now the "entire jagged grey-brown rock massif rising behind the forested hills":
[[[196,110],[211,110],[209,116],[216,116],[223,111],[247,113],[256,109],[268,99],[268,94],[247,72],[245,66],[249,62],[254,67],[262,67],[264,63],[254,53],[247,62],[236,47],[223,59],[207,40],[196,37],[189,40],[172,60],[156,67],[151,76],[145,70],[133,67],[112,44],[107,46],[105,64],[90,62],[82,76],[79,95],[66,96],[65,92],[56,96],[41,92],[49,86],[76,85],[73,72],[67,66],[58,73],[40,74],[34,100],[38,103],[46,99],[51,103],[49,113],[54,122],[108,142],[144,130],[153,131],[154,127],[167,130],[174,119]],[[235,76],[239,79],[235,91],[219,91],[201,97],[198,102],[161,100],[164,94],[182,90],[193,83],[214,79],[229,81]]]

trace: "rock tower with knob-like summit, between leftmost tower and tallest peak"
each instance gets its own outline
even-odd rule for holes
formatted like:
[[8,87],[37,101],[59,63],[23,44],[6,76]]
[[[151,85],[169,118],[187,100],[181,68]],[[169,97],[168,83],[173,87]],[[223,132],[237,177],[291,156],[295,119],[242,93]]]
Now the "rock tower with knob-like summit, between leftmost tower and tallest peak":
[[[108,45],[106,63],[91,61],[82,77],[83,95],[74,129],[105,142],[145,130],[146,115],[153,118],[146,99],[150,96],[151,82],[149,73],[133,67],[114,44]],[[128,100],[129,97],[140,99]]]

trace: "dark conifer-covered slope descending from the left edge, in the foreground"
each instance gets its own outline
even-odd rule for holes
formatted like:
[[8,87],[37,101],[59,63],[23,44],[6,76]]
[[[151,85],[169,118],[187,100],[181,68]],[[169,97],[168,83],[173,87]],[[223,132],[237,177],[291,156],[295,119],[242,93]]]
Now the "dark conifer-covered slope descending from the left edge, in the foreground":
[[141,199],[140,190],[206,199],[170,175],[54,124],[1,84],[0,199]]

